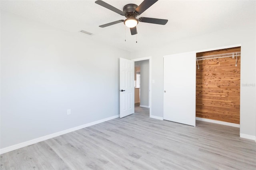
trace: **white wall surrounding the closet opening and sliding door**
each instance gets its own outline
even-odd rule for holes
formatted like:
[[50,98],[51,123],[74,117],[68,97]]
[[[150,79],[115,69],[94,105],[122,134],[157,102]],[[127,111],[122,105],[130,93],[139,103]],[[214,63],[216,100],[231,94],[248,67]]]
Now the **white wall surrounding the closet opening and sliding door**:
[[[252,6],[255,9],[255,6]],[[250,9],[252,11],[252,9]],[[241,47],[241,91],[240,91],[240,133],[251,137],[256,135],[256,14],[252,22],[237,23],[237,27],[216,30],[210,34],[189,37],[170,42],[163,47],[142,49],[131,53],[132,59],[152,56],[152,115],[163,117],[163,56],[175,53],[210,49],[227,45],[242,44]],[[195,65],[196,67],[196,65]]]

